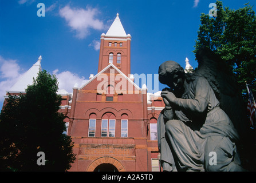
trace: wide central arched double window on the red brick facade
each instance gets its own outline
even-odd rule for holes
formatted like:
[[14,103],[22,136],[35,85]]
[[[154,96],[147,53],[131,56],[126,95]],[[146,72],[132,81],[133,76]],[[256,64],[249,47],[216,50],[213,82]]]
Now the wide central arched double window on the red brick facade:
[[112,113],[106,113],[101,120],[101,137],[115,137],[116,117]]

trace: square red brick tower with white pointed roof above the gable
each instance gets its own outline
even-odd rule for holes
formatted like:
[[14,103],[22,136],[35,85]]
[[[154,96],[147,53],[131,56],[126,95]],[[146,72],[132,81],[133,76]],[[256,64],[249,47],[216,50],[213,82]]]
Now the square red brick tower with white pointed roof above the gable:
[[98,73],[110,63],[125,75],[131,73],[131,35],[126,34],[117,13],[106,34],[101,34]]

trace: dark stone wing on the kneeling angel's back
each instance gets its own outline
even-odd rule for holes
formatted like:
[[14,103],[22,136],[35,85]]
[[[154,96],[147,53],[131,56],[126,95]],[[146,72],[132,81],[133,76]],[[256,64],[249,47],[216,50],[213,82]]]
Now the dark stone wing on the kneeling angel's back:
[[245,129],[246,111],[243,109],[242,93],[233,71],[206,46],[197,51],[196,59],[198,69],[195,74],[207,79],[220,102],[220,108],[230,117],[238,133],[241,133]]

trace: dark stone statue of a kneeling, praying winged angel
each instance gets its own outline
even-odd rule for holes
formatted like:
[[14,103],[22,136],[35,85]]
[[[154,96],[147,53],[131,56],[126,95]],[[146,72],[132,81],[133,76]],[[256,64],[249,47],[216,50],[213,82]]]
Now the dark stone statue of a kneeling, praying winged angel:
[[225,62],[207,47],[199,49],[196,58],[195,73],[185,74],[174,61],[159,67],[159,81],[170,87],[162,91],[166,106],[157,120],[163,170],[244,171],[234,126],[239,122],[228,116],[239,121],[237,83]]

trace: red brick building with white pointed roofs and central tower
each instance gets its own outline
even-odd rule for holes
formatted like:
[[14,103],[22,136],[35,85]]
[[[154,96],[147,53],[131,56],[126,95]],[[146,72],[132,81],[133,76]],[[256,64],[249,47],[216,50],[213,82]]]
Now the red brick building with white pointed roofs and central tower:
[[[147,86],[135,84],[131,35],[125,33],[119,14],[100,40],[98,73],[90,74],[84,86],[74,86],[73,93],[58,91],[65,133],[72,137],[76,154],[70,171],[159,171],[156,122],[164,109],[161,92],[148,93]],[[41,59],[7,92],[25,93],[41,70]]]

